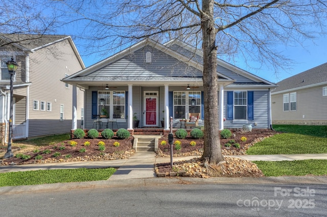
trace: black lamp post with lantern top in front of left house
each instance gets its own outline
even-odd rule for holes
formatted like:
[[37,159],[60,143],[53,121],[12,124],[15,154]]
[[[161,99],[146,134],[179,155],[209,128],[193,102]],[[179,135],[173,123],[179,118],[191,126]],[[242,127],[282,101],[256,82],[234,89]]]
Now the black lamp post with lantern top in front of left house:
[[14,61],[14,58],[11,58],[11,61],[8,61],[7,68],[10,74],[10,111],[9,111],[9,137],[8,137],[8,147],[7,153],[5,154],[4,158],[10,158],[14,156],[11,152],[11,138],[12,138],[12,110],[13,110],[13,82],[14,82],[14,75],[17,69],[18,64]]

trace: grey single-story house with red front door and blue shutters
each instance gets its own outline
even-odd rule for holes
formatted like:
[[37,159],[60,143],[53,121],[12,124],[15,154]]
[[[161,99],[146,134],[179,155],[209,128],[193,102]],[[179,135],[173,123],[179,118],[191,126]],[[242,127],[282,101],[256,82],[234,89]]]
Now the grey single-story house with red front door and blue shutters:
[[[63,80],[85,89],[85,128],[107,111],[118,128],[173,126],[189,113],[204,124],[202,52],[179,40],[160,44],[143,40]],[[270,90],[276,85],[218,59],[219,128],[270,127]],[[74,97],[74,96],[73,96]],[[218,112],[218,111],[217,111]],[[226,119],[224,122],[223,119]],[[112,125],[109,125],[111,128]],[[102,124],[102,128],[106,128]]]

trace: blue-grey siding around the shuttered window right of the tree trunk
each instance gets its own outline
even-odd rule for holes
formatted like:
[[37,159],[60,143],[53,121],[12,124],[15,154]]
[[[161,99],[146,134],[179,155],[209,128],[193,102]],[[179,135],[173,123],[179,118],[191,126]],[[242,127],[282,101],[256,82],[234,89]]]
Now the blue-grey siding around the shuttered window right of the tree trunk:
[[[234,90],[224,90],[224,118],[227,117],[227,91]],[[252,124],[252,128],[269,128],[268,91],[253,91],[253,120],[249,120],[248,123]],[[256,126],[254,123],[256,123]],[[244,123],[238,123],[237,120],[226,120],[224,122],[224,128],[242,128],[243,124]]]

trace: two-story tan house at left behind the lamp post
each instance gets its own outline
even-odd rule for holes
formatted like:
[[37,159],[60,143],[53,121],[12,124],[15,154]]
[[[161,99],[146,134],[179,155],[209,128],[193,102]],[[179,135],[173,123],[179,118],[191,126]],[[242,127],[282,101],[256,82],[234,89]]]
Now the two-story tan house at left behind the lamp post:
[[[11,57],[19,65],[13,83],[13,139],[69,133],[73,119],[73,88],[60,79],[85,68],[72,38],[63,35],[0,35],[0,44],[2,141],[8,140],[10,76],[6,62]],[[76,93],[75,119],[81,126],[84,91]]]

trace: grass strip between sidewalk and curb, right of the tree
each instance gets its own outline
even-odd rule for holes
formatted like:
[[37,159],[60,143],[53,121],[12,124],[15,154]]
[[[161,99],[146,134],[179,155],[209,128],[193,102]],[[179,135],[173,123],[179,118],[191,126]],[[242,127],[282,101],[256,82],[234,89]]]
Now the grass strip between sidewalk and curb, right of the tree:
[[327,175],[327,160],[253,161],[265,176]]

